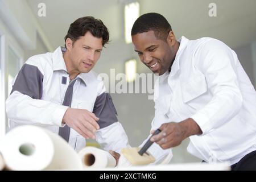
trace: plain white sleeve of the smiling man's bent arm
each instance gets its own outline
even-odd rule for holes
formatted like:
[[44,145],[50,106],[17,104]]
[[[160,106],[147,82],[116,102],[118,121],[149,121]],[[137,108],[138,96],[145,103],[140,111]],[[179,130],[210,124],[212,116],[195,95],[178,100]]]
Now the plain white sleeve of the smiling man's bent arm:
[[198,110],[194,119],[203,135],[229,122],[242,106],[242,94],[237,78],[237,56],[224,43],[210,40],[194,57],[203,72],[212,100]]

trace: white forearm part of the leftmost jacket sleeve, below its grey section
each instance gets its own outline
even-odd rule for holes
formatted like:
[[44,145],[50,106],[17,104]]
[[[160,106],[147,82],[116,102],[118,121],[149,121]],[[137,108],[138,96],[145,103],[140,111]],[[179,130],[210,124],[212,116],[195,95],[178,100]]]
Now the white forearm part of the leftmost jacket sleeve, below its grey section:
[[6,100],[7,116],[15,122],[61,126],[67,106],[36,100],[15,91]]

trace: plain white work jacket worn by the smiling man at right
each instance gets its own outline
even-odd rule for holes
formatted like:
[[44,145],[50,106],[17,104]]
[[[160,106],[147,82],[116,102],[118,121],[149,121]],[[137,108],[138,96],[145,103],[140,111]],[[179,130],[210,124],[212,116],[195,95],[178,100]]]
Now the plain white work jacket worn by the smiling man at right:
[[237,163],[256,150],[255,89],[224,43],[184,36],[179,42],[171,72],[155,84],[152,129],[192,118],[203,134],[189,137],[188,152],[206,162]]

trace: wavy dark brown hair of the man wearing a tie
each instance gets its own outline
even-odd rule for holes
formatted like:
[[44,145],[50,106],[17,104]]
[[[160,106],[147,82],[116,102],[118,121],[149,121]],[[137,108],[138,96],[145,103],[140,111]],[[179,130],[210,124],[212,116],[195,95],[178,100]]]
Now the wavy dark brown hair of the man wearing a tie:
[[102,46],[109,42],[108,28],[100,19],[95,19],[93,16],[85,16],[71,23],[68,34],[65,36],[65,42],[67,38],[76,42],[80,36],[84,36],[88,31],[96,38],[102,38]]

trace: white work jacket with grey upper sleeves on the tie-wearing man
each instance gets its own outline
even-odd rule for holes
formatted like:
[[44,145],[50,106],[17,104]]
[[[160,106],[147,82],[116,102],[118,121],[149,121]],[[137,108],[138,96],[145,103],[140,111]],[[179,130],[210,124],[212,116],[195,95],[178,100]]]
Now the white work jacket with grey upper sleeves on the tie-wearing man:
[[[72,84],[73,81],[75,84]],[[129,146],[125,130],[116,117],[112,98],[105,92],[104,82],[90,71],[80,73],[69,83],[61,47],[54,52],[30,57],[15,77],[13,90],[6,100],[10,129],[19,125],[36,125],[58,134],[68,109],[62,104],[71,84],[71,107],[86,109],[100,118],[96,140],[101,147],[106,151],[119,152]],[[76,151],[86,144],[85,138],[73,129],[70,130],[68,143]]]

